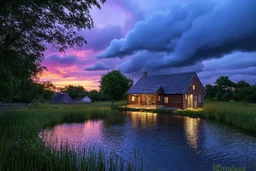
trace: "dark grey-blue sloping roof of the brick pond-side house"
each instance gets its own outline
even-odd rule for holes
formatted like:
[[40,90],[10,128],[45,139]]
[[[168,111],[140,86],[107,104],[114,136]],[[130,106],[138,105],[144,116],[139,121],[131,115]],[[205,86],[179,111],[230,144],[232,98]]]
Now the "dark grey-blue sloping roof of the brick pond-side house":
[[195,72],[143,76],[126,94],[154,94],[163,88],[164,94],[186,93]]

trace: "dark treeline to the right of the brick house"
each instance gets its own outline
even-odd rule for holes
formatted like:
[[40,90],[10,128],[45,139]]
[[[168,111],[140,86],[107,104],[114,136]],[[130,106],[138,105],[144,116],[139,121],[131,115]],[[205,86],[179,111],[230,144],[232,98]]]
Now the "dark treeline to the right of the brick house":
[[234,83],[227,76],[221,76],[215,85],[206,85],[207,101],[230,101],[256,103],[256,85],[251,85],[244,80]]

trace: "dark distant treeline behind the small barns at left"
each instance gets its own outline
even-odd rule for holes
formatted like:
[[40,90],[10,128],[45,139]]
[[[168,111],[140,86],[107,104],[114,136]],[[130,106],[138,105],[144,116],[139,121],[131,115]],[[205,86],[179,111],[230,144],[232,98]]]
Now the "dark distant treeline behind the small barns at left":
[[32,102],[47,102],[52,99],[55,92],[64,92],[74,98],[90,97],[92,101],[105,101],[97,90],[87,91],[82,86],[69,85],[64,88],[56,87],[50,81],[35,82],[24,81],[22,86],[18,88],[9,87],[6,91],[0,91],[0,102],[2,103],[32,103]]

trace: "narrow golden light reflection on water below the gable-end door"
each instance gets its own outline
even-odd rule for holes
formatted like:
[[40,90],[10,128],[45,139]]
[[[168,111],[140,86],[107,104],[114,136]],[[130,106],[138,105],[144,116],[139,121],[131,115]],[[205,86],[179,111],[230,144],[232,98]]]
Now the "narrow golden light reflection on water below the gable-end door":
[[197,150],[198,148],[198,126],[199,118],[184,117],[184,128],[186,138],[191,148]]

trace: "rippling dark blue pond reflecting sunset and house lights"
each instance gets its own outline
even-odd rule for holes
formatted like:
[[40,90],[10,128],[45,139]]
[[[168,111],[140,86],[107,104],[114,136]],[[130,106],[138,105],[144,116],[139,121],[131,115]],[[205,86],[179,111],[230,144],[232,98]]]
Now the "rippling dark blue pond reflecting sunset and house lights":
[[213,170],[218,164],[256,169],[256,138],[233,127],[183,116],[143,112],[124,115],[119,124],[88,120],[57,125],[40,135],[47,146],[82,144],[115,150],[126,160],[132,160],[137,149],[150,170]]

